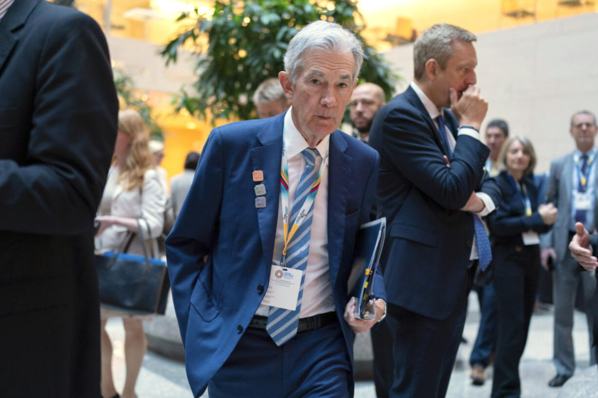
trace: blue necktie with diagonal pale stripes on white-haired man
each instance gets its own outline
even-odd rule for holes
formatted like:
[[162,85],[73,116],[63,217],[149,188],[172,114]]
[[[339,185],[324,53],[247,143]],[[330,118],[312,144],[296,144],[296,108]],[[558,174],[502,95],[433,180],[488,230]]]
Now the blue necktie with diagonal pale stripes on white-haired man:
[[[316,157],[319,156],[315,148],[307,148],[301,152],[305,159],[305,170],[301,174],[295,197],[291,204],[291,218],[289,224],[295,221],[297,213],[303,207],[307,194],[312,189],[313,183],[318,178],[318,168],[315,167]],[[313,204],[307,211],[306,219],[301,223],[297,232],[293,235],[286,249],[286,259],[284,267],[295,268],[305,271],[307,267],[307,254],[309,253],[310,229],[313,219]],[[282,262],[282,261],[281,261]],[[266,330],[276,345],[285,344],[297,334],[299,324],[299,312],[301,311],[301,298],[303,298],[303,283],[305,281],[305,272],[301,277],[301,286],[297,298],[297,308],[295,311],[285,310],[284,308],[270,307]]]

